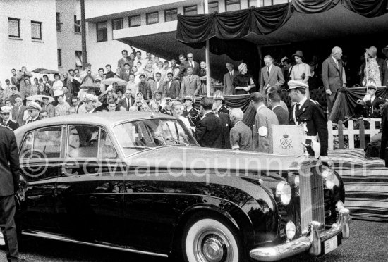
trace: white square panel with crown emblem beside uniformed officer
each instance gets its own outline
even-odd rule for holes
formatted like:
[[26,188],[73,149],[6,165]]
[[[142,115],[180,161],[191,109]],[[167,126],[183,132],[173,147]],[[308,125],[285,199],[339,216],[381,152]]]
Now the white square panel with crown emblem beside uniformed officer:
[[301,125],[272,125],[274,154],[302,156],[305,132]]

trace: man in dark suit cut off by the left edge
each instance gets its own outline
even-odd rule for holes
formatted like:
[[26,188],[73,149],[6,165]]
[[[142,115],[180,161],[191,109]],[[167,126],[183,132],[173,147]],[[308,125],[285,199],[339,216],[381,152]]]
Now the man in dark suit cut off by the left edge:
[[19,153],[13,131],[0,126],[0,228],[6,242],[8,261],[19,261],[15,225],[15,198],[19,189]]

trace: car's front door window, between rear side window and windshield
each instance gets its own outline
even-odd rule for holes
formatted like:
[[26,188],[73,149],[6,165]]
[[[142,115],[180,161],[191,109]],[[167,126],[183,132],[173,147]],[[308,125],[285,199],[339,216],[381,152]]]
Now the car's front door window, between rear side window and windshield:
[[70,125],[68,130],[67,157],[97,158],[99,127]]

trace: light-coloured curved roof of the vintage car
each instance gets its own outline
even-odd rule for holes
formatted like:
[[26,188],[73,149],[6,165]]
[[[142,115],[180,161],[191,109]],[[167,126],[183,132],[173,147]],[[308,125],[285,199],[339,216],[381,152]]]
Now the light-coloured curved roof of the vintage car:
[[[121,123],[126,120],[143,120],[151,118],[174,118],[162,113],[151,112],[137,112],[137,111],[124,111],[124,112],[97,112],[97,113],[80,113],[67,116],[56,116],[54,118],[46,118],[43,120],[37,120],[33,123],[23,125],[15,130],[15,133],[24,134],[28,130],[35,130],[40,127],[51,125],[68,125],[68,124],[84,124],[84,125],[103,125],[111,126],[116,123]],[[18,135],[16,135],[18,136]]]

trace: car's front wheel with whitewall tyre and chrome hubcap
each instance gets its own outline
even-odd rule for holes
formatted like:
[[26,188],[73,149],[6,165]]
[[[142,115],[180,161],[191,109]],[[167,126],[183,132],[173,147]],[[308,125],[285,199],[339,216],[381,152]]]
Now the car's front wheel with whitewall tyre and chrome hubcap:
[[219,218],[193,218],[182,237],[186,262],[240,262],[243,247],[234,227]]

